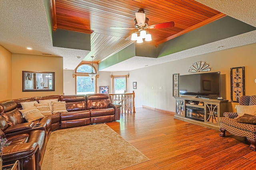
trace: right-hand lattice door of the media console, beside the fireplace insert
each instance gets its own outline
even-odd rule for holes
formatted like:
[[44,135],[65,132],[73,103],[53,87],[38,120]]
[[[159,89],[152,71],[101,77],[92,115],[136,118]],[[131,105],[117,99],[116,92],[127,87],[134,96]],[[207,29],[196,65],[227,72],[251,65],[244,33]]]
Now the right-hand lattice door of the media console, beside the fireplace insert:
[[204,102],[204,104],[205,104],[205,112],[206,112],[205,122],[218,125],[219,105],[206,103],[206,102]]

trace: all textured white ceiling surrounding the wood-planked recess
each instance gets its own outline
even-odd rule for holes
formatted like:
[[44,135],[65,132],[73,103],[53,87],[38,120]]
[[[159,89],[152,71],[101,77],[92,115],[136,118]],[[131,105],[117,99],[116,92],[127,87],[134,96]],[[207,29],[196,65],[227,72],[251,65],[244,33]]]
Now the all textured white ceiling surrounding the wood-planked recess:
[[[254,0],[196,0],[214,8],[228,16],[244,21],[256,27],[256,3]],[[252,3],[254,2],[254,3]],[[63,57],[63,68],[73,70],[90,52],[77,49],[67,49],[52,46],[50,28],[43,0],[0,0],[0,45],[12,53]],[[148,57],[133,57],[121,63],[110,66],[102,71],[124,71],[142,68],[145,65],[155,65],[168,61],[192,57],[222,49],[256,43],[256,31],[217,41],[214,43],[181,51],[172,55],[152,59]],[[33,50],[28,51],[26,47]],[[221,49],[221,50],[222,50]],[[77,59],[77,57],[81,57]]]

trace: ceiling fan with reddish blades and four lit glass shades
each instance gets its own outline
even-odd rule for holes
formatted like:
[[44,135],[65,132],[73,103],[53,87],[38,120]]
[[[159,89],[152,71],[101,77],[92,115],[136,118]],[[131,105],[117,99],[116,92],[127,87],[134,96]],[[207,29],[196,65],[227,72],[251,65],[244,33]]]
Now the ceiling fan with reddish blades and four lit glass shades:
[[[145,41],[151,41],[151,34],[147,33],[145,29],[161,29],[161,28],[169,28],[174,26],[174,22],[164,22],[164,23],[158,23],[155,25],[148,26],[148,18],[146,17],[146,14],[144,13],[143,9],[140,9],[138,12],[135,13],[135,19],[134,19],[134,28],[129,27],[110,27],[110,29],[138,29],[137,31],[134,31],[132,33],[131,40],[137,41],[137,43],[142,43],[143,38]],[[137,33],[140,33],[140,36],[137,35]]]

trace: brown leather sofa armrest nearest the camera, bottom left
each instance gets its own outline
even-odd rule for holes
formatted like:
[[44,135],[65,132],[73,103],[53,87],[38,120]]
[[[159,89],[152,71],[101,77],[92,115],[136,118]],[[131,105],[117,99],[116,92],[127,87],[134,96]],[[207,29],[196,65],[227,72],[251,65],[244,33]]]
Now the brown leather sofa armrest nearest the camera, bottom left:
[[19,160],[21,169],[39,169],[39,145],[38,143],[22,143],[5,147],[2,155],[3,165],[11,164]]

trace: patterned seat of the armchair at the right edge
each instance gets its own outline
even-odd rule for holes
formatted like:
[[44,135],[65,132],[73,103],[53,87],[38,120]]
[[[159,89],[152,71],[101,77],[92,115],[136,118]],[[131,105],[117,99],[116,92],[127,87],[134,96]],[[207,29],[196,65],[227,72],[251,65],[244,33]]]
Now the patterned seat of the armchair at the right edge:
[[[243,129],[245,131],[250,131],[255,133],[256,132],[256,125],[252,125],[252,124],[247,124],[247,123],[240,123],[237,122],[236,119],[230,119],[227,117],[220,117],[220,127],[222,127],[222,123],[238,128],[238,129]],[[223,128],[223,127],[222,127]],[[230,132],[230,131],[229,131]]]

